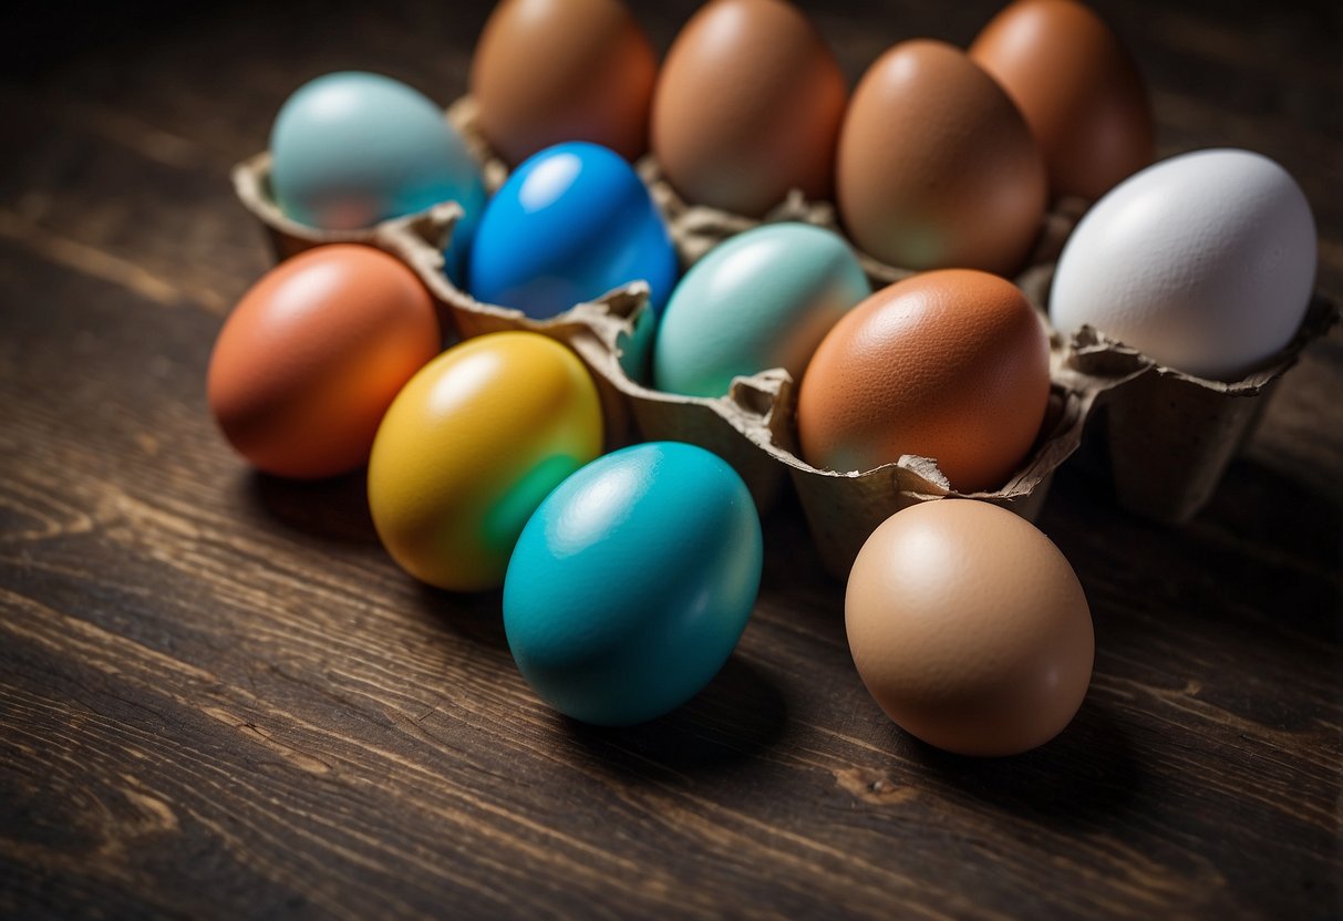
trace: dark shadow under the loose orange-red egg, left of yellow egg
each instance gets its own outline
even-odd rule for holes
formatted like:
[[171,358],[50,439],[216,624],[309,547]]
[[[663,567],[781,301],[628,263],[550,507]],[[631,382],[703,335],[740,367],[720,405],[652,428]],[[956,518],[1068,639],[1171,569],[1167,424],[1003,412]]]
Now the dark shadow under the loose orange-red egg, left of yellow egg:
[[247,501],[285,529],[338,544],[377,545],[363,469],[326,479],[285,479],[252,470]]

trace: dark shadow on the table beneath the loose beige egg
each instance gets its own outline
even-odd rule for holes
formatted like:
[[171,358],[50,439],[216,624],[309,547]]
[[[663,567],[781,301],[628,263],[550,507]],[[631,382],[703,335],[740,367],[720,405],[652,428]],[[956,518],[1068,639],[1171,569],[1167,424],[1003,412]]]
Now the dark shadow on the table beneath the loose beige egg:
[[[1095,691],[1093,691],[1095,694]],[[976,800],[1052,828],[1091,828],[1132,811],[1143,787],[1133,745],[1104,702],[1088,697],[1039,748],[1009,757],[952,755],[892,724],[909,761]]]

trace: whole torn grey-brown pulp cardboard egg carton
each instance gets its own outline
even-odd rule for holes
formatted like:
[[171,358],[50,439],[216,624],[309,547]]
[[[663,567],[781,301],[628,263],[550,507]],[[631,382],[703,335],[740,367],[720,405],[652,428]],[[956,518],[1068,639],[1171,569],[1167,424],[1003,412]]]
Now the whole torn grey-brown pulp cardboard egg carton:
[[[493,193],[508,166],[493,154],[475,126],[475,106],[463,97],[447,110],[463,134]],[[257,154],[234,171],[243,205],[265,227],[277,260],[324,243],[364,243],[406,262],[438,301],[443,320],[462,338],[526,329],[569,345],[592,371],[607,419],[607,444],[635,438],[700,444],[728,460],[764,510],[786,481],[802,502],[825,567],[845,577],[868,534],[894,512],[939,498],[964,495],[951,489],[936,462],[913,455],[862,473],[818,470],[796,454],[794,381],[782,369],[733,381],[727,396],[690,397],[649,389],[626,375],[622,344],[647,306],[647,286],[633,282],[590,303],[548,320],[481,303],[443,273],[443,250],[461,215],[454,203],[360,231],[321,231],[286,219],[269,189],[269,154]],[[670,227],[688,267],[721,240],[767,222],[800,220],[839,231],[829,203],[790,195],[763,220],[684,201],[658,172],[655,161],[638,164]],[[1046,216],[1039,243],[1014,281],[1041,310],[1053,263],[1086,208],[1064,200]],[[913,274],[860,252],[874,286]],[[1002,489],[972,493],[1033,520],[1044,505],[1054,470],[1081,444],[1084,432],[1108,442],[1116,495],[1125,507],[1163,521],[1185,521],[1217,486],[1237,447],[1262,411],[1269,392],[1300,350],[1338,320],[1338,309],[1317,297],[1296,338],[1261,371],[1234,383],[1209,381],[1158,365],[1151,358],[1089,328],[1070,337],[1052,334],[1050,404],[1045,426],[1022,467]],[[1091,424],[1089,424],[1091,423]],[[1097,427],[1103,430],[1097,431]]]

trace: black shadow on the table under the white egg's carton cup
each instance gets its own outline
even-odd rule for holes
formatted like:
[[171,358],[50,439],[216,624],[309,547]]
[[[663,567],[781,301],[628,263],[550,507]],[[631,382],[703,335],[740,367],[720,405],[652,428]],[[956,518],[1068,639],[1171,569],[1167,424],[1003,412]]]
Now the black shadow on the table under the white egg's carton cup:
[[[1261,643],[1279,642],[1284,655],[1299,642],[1288,634],[1324,642],[1343,635],[1343,494],[1252,455],[1230,463],[1207,505],[1185,524],[1128,512],[1095,469],[1065,467],[1041,525],[1084,588],[1111,587],[1116,610],[1093,604],[1097,646],[1103,630],[1140,642],[1156,612],[1163,624],[1195,636],[1236,626]],[[1124,548],[1121,557],[1115,548]]]

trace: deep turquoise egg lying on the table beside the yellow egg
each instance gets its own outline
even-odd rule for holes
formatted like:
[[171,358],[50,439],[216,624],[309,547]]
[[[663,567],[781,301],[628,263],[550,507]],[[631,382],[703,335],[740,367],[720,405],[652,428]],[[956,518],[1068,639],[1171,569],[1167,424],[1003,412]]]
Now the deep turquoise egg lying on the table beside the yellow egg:
[[694,697],[747,626],[760,518],[716,454],[678,442],[571,474],[522,529],[504,630],[522,677],[575,720],[627,726]]

